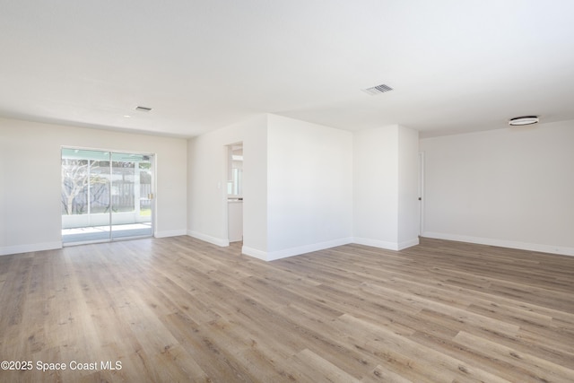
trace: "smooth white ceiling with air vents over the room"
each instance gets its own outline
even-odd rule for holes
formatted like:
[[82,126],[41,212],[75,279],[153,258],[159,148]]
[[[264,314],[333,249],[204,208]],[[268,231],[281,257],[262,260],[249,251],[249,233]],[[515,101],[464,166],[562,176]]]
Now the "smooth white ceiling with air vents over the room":
[[[181,136],[260,113],[422,136],[574,119],[573,15],[572,0],[0,0],[0,116]],[[361,91],[381,83],[394,91]]]

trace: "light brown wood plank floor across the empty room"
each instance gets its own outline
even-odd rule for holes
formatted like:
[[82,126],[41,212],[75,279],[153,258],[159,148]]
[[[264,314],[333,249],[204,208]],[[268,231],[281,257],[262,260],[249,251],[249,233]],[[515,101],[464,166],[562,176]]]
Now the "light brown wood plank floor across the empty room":
[[574,257],[239,253],[175,237],[0,257],[0,360],[32,362],[0,381],[574,381]]

